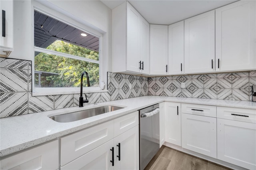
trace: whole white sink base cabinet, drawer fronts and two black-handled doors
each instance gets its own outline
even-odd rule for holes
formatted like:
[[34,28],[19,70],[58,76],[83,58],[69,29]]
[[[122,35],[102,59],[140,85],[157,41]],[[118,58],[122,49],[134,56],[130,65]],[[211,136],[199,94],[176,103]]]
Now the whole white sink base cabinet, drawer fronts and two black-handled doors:
[[62,137],[60,169],[139,169],[138,117],[136,111]]

